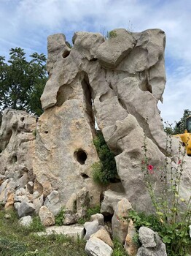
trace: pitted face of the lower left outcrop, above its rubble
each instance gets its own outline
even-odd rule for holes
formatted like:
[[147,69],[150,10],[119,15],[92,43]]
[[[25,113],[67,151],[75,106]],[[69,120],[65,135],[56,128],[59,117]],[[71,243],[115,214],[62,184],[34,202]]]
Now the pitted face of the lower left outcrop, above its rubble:
[[[36,116],[21,110],[4,110],[0,129],[0,173],[7,178],[21,178],[28,173],[33,179],[33,134]],[[18,184],[19,185],[19,184]]]

